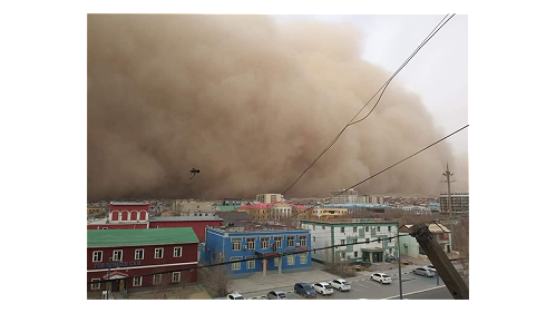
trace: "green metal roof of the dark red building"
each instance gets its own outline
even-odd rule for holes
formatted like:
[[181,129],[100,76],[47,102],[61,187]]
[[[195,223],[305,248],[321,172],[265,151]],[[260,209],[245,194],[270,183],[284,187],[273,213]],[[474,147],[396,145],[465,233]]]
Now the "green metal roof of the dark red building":
[[87,231],[87,247],[185,243],[198,243],[198,238],[192,227]]

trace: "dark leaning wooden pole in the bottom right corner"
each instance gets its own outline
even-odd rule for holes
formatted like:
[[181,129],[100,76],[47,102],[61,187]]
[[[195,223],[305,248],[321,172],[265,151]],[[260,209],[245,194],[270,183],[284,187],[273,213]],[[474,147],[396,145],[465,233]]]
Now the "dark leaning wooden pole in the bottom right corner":
[[453,299],[469,300],[469,287],[458,274],[442,247],[437,243],[429,227],[423,223],[416,224],[410,228],[410,235],[416,237]]

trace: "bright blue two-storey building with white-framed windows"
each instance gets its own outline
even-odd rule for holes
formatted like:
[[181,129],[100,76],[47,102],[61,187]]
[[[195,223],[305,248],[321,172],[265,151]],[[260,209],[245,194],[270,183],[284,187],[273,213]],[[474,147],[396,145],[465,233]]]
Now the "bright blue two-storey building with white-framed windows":
[[[256,272],[291,273],[311,270],[311,233],[309,229],[245,229],[243,227],[206,227],[206,243],[201,245],[201,262],[227,265],[227,273],[244,277]],[[297,254],[283,255],[284,253]],[[265,257],[264,260],[253,260]]]

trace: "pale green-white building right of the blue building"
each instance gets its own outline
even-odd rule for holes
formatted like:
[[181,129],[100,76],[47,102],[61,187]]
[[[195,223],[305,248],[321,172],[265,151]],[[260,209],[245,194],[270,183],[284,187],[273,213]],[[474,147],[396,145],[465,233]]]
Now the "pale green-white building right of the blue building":
[[[398,222],[378,222],[373,218],[357,218],[351,222],[301,221],[301,227],[311,232],[311,244],[315,250],[313,261],[372,264],[383,262],[386,256],[398,256]],[[328,250],[319,250],[322,247]]]

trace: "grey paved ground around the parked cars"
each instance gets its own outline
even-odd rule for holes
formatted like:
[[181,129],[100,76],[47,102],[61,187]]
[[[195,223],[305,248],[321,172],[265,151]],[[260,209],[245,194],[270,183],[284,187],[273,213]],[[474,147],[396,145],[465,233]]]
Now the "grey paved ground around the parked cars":
[[[400,286],[397,276],[391,284],[386,285],[371,281],[369,277],[348,278],[348,281],[351,283],[351,291],[340,292],[334,290],[332,295],[318,294],[314,300],[399,300]],[[289,300],[303,300],[300,295],[293,293],[293,286],[281,291],[287,293]],[[453,299],[441,280],[437,285],[436,277],[423,277],[412,273],[402,274],[402,292],[407,299]],[[264,300],[262,296],[265,296],[266,293],[254,292],[243,295],[246,299]]]

